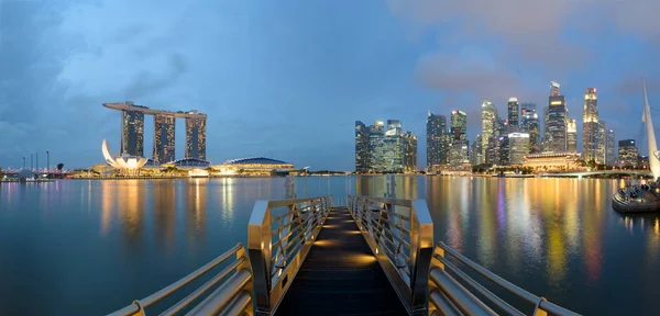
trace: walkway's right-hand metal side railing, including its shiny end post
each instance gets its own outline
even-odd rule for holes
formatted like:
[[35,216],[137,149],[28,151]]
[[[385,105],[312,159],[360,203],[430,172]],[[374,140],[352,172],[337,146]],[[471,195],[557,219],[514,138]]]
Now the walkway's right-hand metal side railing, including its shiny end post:
[[433,253],[426,201],[349,196],[348,206],[408,313],[426,315]]

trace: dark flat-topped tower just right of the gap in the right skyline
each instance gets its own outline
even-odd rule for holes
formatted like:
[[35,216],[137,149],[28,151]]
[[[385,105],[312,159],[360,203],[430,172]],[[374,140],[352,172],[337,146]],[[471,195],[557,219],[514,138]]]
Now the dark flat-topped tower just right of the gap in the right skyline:
[[447,116],[429,112],[427,117],[427,170],[446,165],[448,151]]

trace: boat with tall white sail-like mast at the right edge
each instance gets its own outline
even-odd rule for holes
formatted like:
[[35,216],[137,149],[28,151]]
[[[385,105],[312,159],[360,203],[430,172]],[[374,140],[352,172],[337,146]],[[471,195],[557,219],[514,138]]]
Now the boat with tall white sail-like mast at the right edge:
[[646,124],[647,142],[649,148],[649,167],[653,180],[648,183],[628,183],[617,190],[612,196],[612,206],[620,213],[654,213],[660,212],[660,151],[656,144],[656,132],[651,121],[651,106],[647,97],[646,82],[641,79],[644,91],[644,114],[641,122]]

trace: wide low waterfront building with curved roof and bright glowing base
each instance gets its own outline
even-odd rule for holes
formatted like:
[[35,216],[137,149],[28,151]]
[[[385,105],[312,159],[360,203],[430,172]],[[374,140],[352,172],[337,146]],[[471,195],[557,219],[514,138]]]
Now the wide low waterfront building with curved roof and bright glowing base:
[[211,168],[219,171],[221,174],[245,176],[270,176],[273,171],[295,170],[293,163],[265,157],[227,160],[222,162],[222,165],[216,165]]

